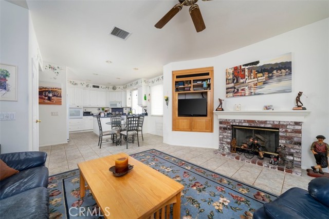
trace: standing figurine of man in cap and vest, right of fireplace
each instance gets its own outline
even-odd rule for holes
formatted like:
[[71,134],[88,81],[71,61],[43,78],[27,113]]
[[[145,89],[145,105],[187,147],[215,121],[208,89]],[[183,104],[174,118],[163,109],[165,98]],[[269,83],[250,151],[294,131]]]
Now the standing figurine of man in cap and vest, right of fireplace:
[[[329,156],[329,145],[323,142],[325,140],[323,135],[318,135],[316,138],[318,141],[312,143],[310,150],[314,154],[317,166],[312,166],[310,168],[312,168],[315,173],[324,174],[322,168],[326,168],[328,166],[327,156]],[[317,169],[319,169],[319,171]]]

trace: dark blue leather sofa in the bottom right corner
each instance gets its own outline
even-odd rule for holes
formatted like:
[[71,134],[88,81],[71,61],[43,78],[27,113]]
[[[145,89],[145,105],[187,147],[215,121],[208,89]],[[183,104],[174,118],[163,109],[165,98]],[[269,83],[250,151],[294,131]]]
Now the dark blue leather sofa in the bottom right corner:
[[255,211],[253,218],[328,218],[328,215],[329,178],[318,177],[308,183],[308,191],[291,188]]

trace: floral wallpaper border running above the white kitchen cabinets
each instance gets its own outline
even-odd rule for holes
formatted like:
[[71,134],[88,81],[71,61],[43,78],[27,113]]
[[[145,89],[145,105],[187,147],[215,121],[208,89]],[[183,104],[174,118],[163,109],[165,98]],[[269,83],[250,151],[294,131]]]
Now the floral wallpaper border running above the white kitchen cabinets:
[[[129,84],[123,85],[123,86],[103,86],[103,85],[98,85],[100,89],[102,90],[118,90],[118,91],[123,91],[123,90],[132,90],[135,88],[138,88],[142,85],[155,85],[163,82],[163,75],[151,78],[151,79],[145,79],[141,78],[138,79],[137,81],[131,82]],[[93,88],[93,85],[95,84],[90,84],[90,83],[85,83],[83,81],[74,81],[74,80],[67,80],[67,84],[71,87],[81,87],[81,88]]]

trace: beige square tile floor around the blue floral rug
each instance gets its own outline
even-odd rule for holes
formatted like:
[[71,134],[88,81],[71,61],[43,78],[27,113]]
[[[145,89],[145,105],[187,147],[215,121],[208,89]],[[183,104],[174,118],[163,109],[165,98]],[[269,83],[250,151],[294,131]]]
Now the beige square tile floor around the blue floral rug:
[[49,175],[76,169],[79,162],[102,156],[119,152],[133,154],[157,149],[277,195],[291,187],[307,190],[309,181],[313,179],[307,175],[306,170],[302,170],[302,176],[297,176],[223,157],[214,154],[215,149],[182,147],[162,142],[162,136],[144,134],[144,141],[140,137],[140,147],[135,142],[135,144],[129,143],[126,149],[125,142],[122,142],[122,146],[103,143],[102,148],[99,149],[98,136],[93,132],[82,132],[70,134],[68,144],[40,147],[40,151],[48,154],[46,166],[49,168]]

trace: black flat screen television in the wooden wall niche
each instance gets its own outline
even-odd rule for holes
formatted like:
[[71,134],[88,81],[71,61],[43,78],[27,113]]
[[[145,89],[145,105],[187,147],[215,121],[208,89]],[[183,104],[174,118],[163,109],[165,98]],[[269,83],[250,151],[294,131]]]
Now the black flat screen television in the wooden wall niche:
[[207,116],[207,98],[178,99],[178,116]]

